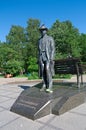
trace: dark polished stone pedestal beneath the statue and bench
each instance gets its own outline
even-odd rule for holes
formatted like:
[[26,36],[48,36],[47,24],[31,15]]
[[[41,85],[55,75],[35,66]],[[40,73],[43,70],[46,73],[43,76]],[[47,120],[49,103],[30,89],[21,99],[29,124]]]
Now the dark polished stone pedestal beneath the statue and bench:
[[85,102],[86,87],[74,83],[54,82],[53,93],[40,92],[42,84],[24,90],[11,107],[11,111],[36,120],[50,113],[63,114]]

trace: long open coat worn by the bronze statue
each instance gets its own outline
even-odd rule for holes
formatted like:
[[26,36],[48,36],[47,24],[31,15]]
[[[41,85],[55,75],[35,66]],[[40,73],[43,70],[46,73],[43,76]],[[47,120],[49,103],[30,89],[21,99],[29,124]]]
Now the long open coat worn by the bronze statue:
[[51,36],[47,34],[44,37],[41,37],[38,42],[38,59],[39,59],[39,76],[42,77],[43,68],[41,65],[41,58],[42,58],[42,44],[45,45],[45,54],[46,60],[50,63],[50,72],[52,76],[54,75],[54,57],[55,57],[55,43]]

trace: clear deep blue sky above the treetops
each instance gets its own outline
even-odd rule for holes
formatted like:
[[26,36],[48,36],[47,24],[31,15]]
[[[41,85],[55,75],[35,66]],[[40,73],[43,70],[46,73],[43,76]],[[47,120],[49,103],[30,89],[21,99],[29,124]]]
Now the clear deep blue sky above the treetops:
[[70,20],[80,33],[86,33],[86,0],[0,0],[0,41],[5,41],[12,25],[26,27],[29,18],[48,28],[57,19]]

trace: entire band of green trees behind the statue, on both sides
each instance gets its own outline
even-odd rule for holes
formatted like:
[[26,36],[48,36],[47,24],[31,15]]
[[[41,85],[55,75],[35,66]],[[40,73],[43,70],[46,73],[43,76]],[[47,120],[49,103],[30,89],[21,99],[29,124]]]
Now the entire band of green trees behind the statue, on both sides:
[[[6,42],[0,41],[0,70],[9,71],[13,75],[25,70],[37,72],[38,39],[40,20],[28,19],[27,26],[12,25]],[[48,30],[48,34],[54,38],[56,59],[69,55],[80,57],[86,62],[86,34],[80,34],[71,21],[60,22],[58,19]]]

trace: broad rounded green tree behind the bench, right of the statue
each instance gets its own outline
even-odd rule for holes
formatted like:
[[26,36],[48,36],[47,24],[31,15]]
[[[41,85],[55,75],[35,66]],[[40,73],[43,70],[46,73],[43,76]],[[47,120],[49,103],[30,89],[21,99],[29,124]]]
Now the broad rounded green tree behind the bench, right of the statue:
[[73,57],[80,56],[79,31],[70,21],[56,20],[49,33],[55,40],[56,58],[66,57],[69,54]]

